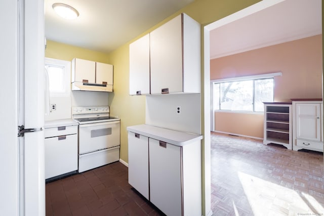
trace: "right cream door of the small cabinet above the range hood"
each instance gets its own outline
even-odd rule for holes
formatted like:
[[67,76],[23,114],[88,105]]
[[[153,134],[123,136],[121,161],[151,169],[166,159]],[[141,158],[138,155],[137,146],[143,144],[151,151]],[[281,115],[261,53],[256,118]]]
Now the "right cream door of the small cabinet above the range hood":
[[96,83],[97,84],[113,84],[113,66],[96,62]]

